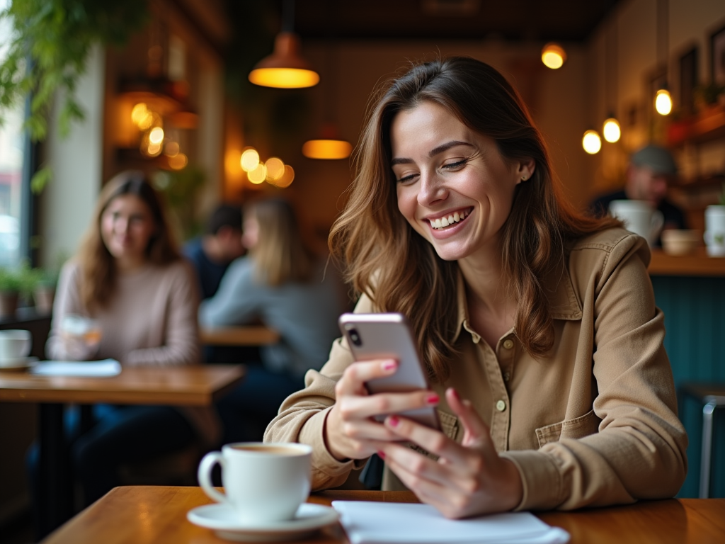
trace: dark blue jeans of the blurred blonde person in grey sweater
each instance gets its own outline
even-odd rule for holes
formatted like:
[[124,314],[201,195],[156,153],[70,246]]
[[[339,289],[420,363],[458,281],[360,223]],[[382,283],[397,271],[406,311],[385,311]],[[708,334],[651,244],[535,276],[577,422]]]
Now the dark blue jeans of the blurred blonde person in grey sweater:
[[216,404],[224,425],[222,443],[262,440],[282,401],[304,387],[301,377],[277,374],[260,365],[247,365],[244,381]]

